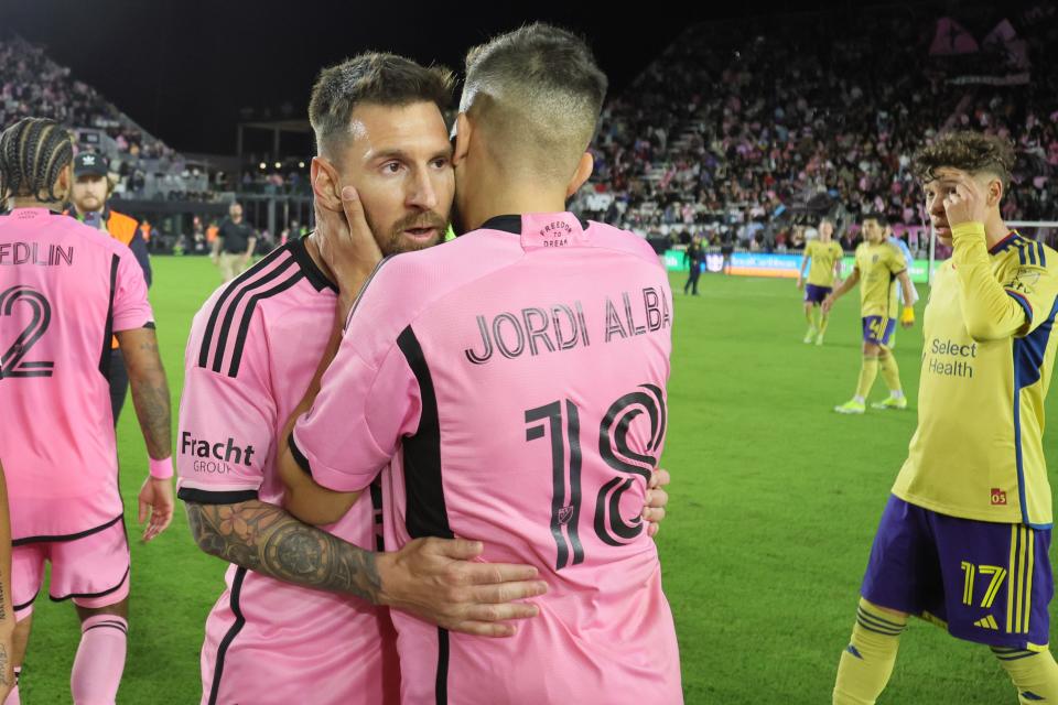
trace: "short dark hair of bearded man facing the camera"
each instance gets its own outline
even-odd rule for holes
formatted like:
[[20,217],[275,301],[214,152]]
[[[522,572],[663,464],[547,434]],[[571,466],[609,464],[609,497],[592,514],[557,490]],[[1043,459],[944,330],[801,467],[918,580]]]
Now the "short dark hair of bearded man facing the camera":
[[452,105],[455,79],[443,66],[421,66],[396,54],[367,52],[320,72],[309,100],[309,122],[316,144],[344,134],[360,104],[407,106],[433,102],[444,112]]

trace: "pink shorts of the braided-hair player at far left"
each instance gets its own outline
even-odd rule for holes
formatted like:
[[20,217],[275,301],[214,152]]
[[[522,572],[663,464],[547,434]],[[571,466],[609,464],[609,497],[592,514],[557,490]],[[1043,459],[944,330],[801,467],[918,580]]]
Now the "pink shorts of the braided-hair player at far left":
[[129,540],[122,517],[76,539],[15,542],[11,551],[11,593],[15,619],[33,612],[44,583],[44,563],[52,564],[48,596],[73,598],[79,607],[116,605],[129,595]]

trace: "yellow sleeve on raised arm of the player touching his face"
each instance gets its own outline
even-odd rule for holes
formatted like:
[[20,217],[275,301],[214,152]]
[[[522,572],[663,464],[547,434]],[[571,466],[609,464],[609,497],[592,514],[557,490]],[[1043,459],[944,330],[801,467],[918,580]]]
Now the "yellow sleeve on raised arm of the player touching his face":
[[984,226],[968,223],[952,228],[952,265],[959,281],[959,297],[967,330],[978,340],[1028,335],[1052,315],[1058,281],[1047,267],[1041,245],[1034,248],[1035,262],[1025,263],[996,279],[985,240]]

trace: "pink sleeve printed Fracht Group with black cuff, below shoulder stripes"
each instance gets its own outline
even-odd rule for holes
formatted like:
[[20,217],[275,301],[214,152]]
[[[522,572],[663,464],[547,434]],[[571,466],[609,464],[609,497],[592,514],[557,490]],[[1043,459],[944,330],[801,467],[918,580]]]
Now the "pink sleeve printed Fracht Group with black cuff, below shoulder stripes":
[[198,366],[201,330],[187,341],[176,438],[179,497],[185,501],[230,505],[258,496],[277,429],[263,333],[255,316],[238,377]]

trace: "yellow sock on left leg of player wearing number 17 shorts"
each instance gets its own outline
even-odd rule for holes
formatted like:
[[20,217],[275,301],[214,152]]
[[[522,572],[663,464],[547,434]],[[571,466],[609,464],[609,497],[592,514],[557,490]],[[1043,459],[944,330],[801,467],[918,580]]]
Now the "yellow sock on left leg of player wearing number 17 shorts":
[[907,617],[884,612],[861,598],[852,639],[841,654],[834,705],[874,705],[885,690]]

